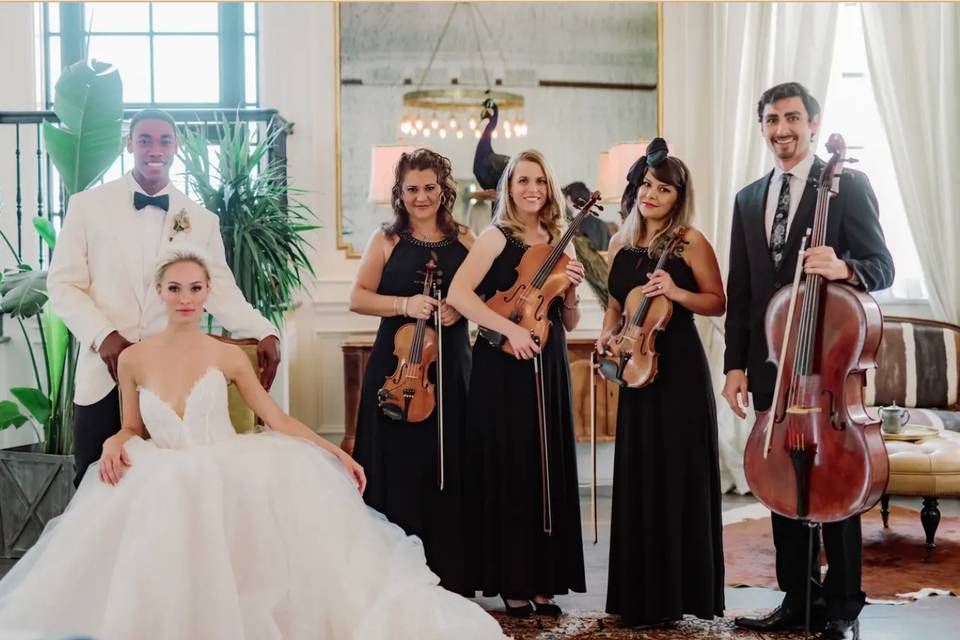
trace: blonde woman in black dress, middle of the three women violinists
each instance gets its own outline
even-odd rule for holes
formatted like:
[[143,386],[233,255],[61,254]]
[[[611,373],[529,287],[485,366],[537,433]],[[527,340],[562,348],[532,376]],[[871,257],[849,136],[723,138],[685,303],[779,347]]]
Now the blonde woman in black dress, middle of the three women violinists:
[[[553,324],[543,345],[543,386],[552,531],[544,531],[540,436],[530,333],[490,310],[481,297],[509,289],[531,245],[561,236],[563,195],[543,156],[525,151],[507,165],[498,186],[494,223],[480,234],[450,287],[464,315],[509,340],[517,357],[478,336],[467,402],[472,587],[499,594],[508,613],[559,615],[551,599],[586,590],[570,368],[565,332],[580,320],[576,286],[583,265],[573,259],[570,287],[549,309]],[[479,296],[478,296],[479,294]],[[530,601],[533,601],[531,605]]]

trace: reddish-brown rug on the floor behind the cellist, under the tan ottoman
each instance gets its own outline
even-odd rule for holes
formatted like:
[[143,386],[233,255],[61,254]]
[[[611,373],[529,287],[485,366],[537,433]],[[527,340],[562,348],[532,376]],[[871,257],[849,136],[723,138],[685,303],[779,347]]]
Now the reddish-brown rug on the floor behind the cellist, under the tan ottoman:
[[[919,501],[919,498],[917,499]],[[920,514],[890,508],[884,529],[880,508],[861,518],[863,526],[863,590],[874,600],[909,600],[923,588],[960,594],[960,517],[944,517],[937,529],[929,562],[923,562],[924,533]],[[723,528],[728,586],[777,588],[773,535],[769,518],[745,520]],[[826,558],[821,555],[821,565]]]

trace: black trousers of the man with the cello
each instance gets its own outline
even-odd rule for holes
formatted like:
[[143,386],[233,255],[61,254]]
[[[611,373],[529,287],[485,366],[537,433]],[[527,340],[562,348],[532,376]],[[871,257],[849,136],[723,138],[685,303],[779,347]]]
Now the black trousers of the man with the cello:
[[[753,406],[765,411],[773,394],[753,394]],[[825,607],[828,618],[853,620],[860,615],[866,594],[860,588],[863,567],[863,542],[860,516],[840,522],[828,522],[820,528],[827,555],[827,575],[820,581],[820,538],[813,530],[813,561],[808,562],[811,529],[808,525],[770,514],[773,544],[777,551],[777,584],[786,595],[783,602],[803,610],[807,602],[807,580],[812,580],[811,601],[815,608]]]

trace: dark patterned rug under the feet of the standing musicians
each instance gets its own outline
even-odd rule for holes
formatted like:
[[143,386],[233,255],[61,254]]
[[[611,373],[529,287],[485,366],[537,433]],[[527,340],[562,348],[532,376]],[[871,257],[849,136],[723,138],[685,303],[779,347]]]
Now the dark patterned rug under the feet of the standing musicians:
[[502,611],[491,611],[503,632],[515,640],[666,640],[697,638],[702,640],[801,640],[802,633],[777,633],[764,635],[754,631],[734,629],[733,618],[737,615],[753,615],[755,611],[728,612],[729,616],[717,620],[686,618],[675,626],[663,629],[633,629],[620,626],[617,616],[596,611],[571,610],[558,619],[533,616],[511,618]]

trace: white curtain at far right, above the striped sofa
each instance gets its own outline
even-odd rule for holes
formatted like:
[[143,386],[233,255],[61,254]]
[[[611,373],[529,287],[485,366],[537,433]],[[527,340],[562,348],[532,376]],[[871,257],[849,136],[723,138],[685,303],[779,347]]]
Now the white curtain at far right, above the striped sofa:
[[960,5],[863,4],[867,63],[938,319],[960,322]]

